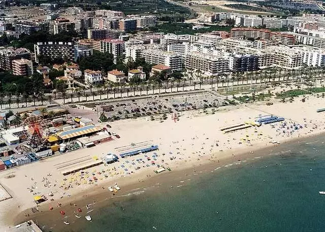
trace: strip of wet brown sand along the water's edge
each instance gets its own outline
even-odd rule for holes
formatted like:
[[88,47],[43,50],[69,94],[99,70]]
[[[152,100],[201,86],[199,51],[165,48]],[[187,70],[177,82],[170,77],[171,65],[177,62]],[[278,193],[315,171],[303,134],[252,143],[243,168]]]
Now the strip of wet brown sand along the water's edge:
[[[96,186],[95,189],[93,189],[93,192],[90,194],[80,193],[79,195],[73,196],[71,198],[72,201],[69,201],[68,199],[61,201],[63,205],[62,207],[54,207],[53,210],[43,209],[44,207],[42,207],[40,208],[40,212],[36,213],[32,217],[29,217],[28,219],[38,221],[39,225],[46,225],[45,228],[48,227],[48,223],[54,223],[55,225],[57,225],[58,229],[63,229],[65,228],[64,225],[61,223],[63,221],[63,217],[59,214],[59,211],[61,210],[66,212],[66,216],[64,216],[64,219],[70,219],[75,222],[74,212],[76,211],[76,209],[81,208],[83,212],[79,214],[84,216],[83,214],[87,212],[85,207],[85,205],[87,204],[90,205],[90,210],[92,211],[112,206],[115,203],[128,201],[132,196],[137,196],[139,194],[143,194],[144,196],[146,196],[148,194],[153,194],[155,191],[159,191],[160,193],[164,192],[168,194],[169,191],[173,190],[171,186],[175,188],[178,186],[186,185],[187,183],[190,183],[193,179],[199,178],[201,175],[209,175],[211,172],[216,171],[222,172],[224,171],[224,168],[228,168],[234,164],[240,165],[241,162],[248,161],[249,163],[253,164],[255,161],[260,160],[262,158],[276,155],[273,153],[273,151],[277,151],[277,153],[279,153],[279,150],[283,150],[282,148],[287,145],[293,145],[297,142],[300,143],[301,140],[302,143],[306,143],[308,140],[312,140],[316,137],[323,135],[325,135],[325,132],[319,132],[317,134],[306,136],[303,138],[294,138],[291,140],[288,139],[286,141],[283,141],[280,145],[270,144],[270,146],[267,146],[265,148],[257,147],[256,149],[251,149],[253,153],[250,153],[247,150],[243,151],[243,149],[237,149],[234,150],[234,152],[236,153],[235,156],[222,157],[219,160],[220,162],[217,162],[215,160],[205,160],[205,162],[203,162],[202,164],[194,165],[193,167],[186,167],[172,172],[166,171],[161,174],[155,174],[154,176],[147,177],[144,182],[136,182],[135,178],[129,178],[129,182],[126,185],[123,185],[123,188],[115,196],[113,196],[111,192],[109,192],[107,186],[103,186],[105,187],[105,189],[103,189],[103,184],[101,184]],[[229,152],[231,153],[231,151]],[[219,173],[218,175],[220,174],[221,173]],[[177,185],[177,183],[180,184],[180,181],[182,181],[182,184]],[[88,200],[84,200],[84,197],[87,197]],[[93,203],[93,200],[95,201],[95,203]],[[75,203],[76,207],[70,206],[70,203]],[[19,214],[17,216],[16,224],[19,224],[21,221],[24,221],[24,219],[26,219],[26,217],[23,215],[23,213]],[[42,228],[42,226],[40,227]]]

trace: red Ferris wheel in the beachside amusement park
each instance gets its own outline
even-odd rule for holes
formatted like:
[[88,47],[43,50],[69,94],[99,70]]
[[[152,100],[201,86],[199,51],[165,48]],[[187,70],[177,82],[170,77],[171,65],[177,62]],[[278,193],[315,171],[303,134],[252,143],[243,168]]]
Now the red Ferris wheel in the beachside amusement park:
[[39,146],[46,141],[48,128],[41,117],[29,116],[23,121],[22,126],[30,145]]

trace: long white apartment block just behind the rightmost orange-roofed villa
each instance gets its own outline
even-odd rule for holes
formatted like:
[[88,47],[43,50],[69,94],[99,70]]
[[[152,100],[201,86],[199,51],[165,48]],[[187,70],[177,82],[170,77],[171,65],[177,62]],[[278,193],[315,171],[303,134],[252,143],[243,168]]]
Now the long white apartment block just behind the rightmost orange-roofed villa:
[[176,52],[162,51],[158,49],[144,49],[140,57],[145,58],[147,63],[160,63],[171,67],[173,71],[182,70],[182,56]]

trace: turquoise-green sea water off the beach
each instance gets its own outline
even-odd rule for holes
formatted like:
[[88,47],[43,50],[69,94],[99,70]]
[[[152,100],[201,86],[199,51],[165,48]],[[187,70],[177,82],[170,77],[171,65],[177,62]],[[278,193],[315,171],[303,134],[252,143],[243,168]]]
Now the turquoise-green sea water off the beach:
[[127,196],[67,231],[325,231],[324,141],[281,144],[272,155],[175,180],[183,186]]

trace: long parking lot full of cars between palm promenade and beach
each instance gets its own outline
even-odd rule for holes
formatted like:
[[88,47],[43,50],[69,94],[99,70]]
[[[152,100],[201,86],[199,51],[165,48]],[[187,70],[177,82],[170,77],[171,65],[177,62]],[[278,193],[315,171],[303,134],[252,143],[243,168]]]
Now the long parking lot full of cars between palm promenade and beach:
[[140,100],[121,100],[119,102],[97,105],[98,112],[105,112],[109,120],[158,116],[172,112],[217,108],[228,105],[221,97],[209,92],[189,93],[174,96],[153,96]]

